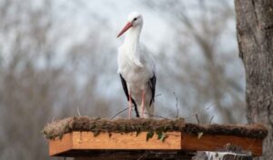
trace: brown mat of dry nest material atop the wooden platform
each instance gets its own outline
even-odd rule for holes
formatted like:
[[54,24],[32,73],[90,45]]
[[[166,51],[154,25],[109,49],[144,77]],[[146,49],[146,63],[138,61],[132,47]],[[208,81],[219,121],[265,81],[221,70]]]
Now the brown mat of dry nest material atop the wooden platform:
[[90,118],[86,116],[68,117],[45,126],[43,132],[47,139],[62,137],[73,131],[90,132],[171,132],[179,131],[198,135],[237,135],[250,138],[263,139],[268,135],[264,125],[196,125],[185,123],[183,118],[175,120],[156,119],[116,119],[108,120],[101,118]]

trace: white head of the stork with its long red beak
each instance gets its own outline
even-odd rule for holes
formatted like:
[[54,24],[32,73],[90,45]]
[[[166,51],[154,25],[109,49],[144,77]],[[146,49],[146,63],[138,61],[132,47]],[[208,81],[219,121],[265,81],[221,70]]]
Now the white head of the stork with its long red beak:
[[132,12],[130,15],[128,15],[127,24],[116,37],[123,35],[130,28],[142,27],[142,24],[143,24],[142,15],[140,15],[137,12]]

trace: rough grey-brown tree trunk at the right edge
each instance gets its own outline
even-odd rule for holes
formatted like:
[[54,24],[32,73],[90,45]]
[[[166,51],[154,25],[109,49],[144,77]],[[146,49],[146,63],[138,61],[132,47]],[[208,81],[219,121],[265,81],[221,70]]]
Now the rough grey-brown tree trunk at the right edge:
[[247,78],[248,122],[268,126],[264,153],[273,157],[273,0],[235,0],[239,56]]

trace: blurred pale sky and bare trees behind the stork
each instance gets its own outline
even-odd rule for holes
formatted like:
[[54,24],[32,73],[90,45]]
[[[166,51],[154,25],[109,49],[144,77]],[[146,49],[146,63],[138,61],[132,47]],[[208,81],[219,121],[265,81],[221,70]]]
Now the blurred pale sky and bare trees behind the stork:
[[0,159],[49,159],[44,125],[127,107],[116,35],[132,11],[157,62],[155,115],[246,123],[233,1],[0,0]]

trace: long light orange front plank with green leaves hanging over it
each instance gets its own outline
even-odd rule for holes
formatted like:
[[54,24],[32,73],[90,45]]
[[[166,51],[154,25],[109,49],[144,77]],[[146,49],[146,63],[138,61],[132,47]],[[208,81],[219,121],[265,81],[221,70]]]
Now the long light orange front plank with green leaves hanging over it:
[[73,132],[73,149],[151,149],[151,150],[179,150],[181,148],[181,133],[167,132],[164,142],[154,135],[146,141],[147,132],[134,133],[100,133],[96,137],[90,132]]

